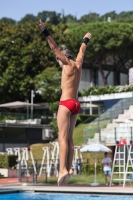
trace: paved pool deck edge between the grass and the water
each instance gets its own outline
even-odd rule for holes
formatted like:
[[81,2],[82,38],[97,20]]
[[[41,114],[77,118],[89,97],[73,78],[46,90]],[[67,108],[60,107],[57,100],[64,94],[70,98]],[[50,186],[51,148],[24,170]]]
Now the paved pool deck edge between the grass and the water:
[[[4,181],[4,182],[3,182]],[[51,192],[51,193],[84,193],[84,194],[112,194],[112,195],[133,195],[133,186],[97,186],[74,185],[58,187],[54,184],[27,184],[20,183],[18,179],[0,179],[0,193],[21,191]]]

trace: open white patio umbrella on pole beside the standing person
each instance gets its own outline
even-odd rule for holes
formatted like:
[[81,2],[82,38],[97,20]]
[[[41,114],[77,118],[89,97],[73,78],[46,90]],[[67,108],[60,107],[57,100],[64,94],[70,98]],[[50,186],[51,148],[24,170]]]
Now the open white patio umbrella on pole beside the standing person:
[[101,152],[108,152],[108,153],[111,153],[112,150],[109,149],[108,147],[106,147],[105,145],[103,144],[100,144],[100,143],[92,143],[92,144],[88,144],[84,147],[82,147],[80,149],[80,152],[83,153],[83,152],[92,152],[92,153],[95,153],[95,174],[94,174],[94,183],[91,184],[91,186],[98,186],[99,183],[96,182],[96,153],[101,153]]

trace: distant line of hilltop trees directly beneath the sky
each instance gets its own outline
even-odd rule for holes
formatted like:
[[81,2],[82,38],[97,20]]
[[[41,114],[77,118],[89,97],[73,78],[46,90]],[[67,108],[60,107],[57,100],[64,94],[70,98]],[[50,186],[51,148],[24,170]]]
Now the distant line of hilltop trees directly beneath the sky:
[[[57,25],[59,23],[92,23],[92,22],[106,22],[110,18],[113,22],[126,22],[126,23],[132,23],[133,22],[133,11],[123,11],[120,13],[116,13],[115,11],[111,11],[108,13],[105,13],[104,15],[100,16],[98,13],[87,13],[80,17],[80,19],[77,19],[76,16],[73,16],[72,14],[65,15],[65,11],[62,10],[60,13],[57,13],[55,11],[42,11],[39,12],[36,16],[33,14],[26,14],[20,21],[18,21],[19,24],[23,24],[26,22],[35,22],[39,19],[42,19],[42,21],[49,21],[51,24]],[[0,19],[0,22],[7,22],[10,24],[15,25],[17,22],[11,18],[4,17]]]

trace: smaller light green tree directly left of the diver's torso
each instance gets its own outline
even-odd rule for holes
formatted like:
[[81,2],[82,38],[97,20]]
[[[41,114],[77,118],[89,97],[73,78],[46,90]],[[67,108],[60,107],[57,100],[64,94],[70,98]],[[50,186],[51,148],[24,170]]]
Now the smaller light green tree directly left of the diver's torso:
[[47,68],[36,77],[36,89],[41,91],[43,100],[49,102],[49,109],[53,113],[54,119],[50,125],[55,133],[58,132],[56,115],[61,96],[60,83],[61,71],[56,67]]

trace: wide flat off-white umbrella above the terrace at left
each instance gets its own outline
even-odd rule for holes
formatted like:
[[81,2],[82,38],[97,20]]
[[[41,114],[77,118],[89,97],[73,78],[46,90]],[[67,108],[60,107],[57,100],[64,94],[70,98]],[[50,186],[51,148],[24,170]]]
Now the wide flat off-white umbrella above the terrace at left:
[[23,108],[23,107],[30,107],[30,106],[39,106],[39,105],[22,102],[22,101],[14,101],[10,103],[1,104],[0,108]]

